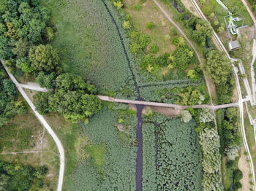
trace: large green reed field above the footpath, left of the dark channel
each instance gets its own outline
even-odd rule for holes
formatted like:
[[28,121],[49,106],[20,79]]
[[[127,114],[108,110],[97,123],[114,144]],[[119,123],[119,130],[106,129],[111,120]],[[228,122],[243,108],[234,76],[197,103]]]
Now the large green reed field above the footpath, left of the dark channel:
[[[110,5],[110,1],[106,3]],[[60,51],[64,71],[80,74],[100,92],[126,85],[131,72],[116,26],[102,1],[43,0],[42,4],[52,14],[56,29],[52,45]],[[119,31],[124,33],[121,27]]]

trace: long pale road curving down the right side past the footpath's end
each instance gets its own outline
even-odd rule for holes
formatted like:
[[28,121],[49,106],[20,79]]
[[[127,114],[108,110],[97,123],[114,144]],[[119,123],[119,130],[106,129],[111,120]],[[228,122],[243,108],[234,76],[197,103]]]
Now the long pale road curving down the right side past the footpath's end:
[[[203,15],[203,12],[201,11],[200,7],[198,6],[197,2],[195,0],[191,0],[192,4],[194,5],[195,9],[197,10],[197,12],[199,13],[199,15],[206,21],[207,18],[205,17],[205,15]],[[214,31],[214,30],[213,30]],[[219,47],[222,48],[222,50],[225,52],[225,54],[227,55],[227,58],[230,59],[230,61],[233,63],[233,61],[238,61],[237,59],[231,58],[230,55],[228,54],[227,50],[225,49],[225,46],[222,44],[221,40],[219,39],[219,36],[217,35],[217,33],[214,31],[214,39],[217,40]],[[240,83],[239,83],[239,79],[238,79],[238,69],[232,64],[233,67],[233,71],[235,73],[235,79],[236,79],[236,87],[238,90],[238,98],[239,98],[239,111],[240,111],[240,118],[241,118],[241,134],[243,137],[243,141],[244,141],[244,147],[246,149],[246,152],[248,152],[249,154],[249,160],[250,160],[250,170],[251,170],[251,174],[252,174],[252,181],[254,183],[254,190],[256,190],[256,184],[255,184],[255,168],[253,166],[253,161],[252,161],[252,155],[249,152],[249,146],[247,144],[246,141],[246,135],[245,135],[245,130],[244,130],[244,105],[243,105],[243,98],[242,98],[242,94],[241,94],[241,87],[240,87]],[[252,100],[252,95],[250,96],[250,100]]]

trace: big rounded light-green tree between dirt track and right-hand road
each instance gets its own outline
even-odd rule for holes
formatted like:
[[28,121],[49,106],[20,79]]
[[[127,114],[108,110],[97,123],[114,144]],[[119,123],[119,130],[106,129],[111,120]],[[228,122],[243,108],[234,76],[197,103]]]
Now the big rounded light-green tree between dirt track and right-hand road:
[[218,50],[211,50],[208,53],[205,69],[209,77],[217,84],[227,82],[231,73],[230,61],[227,60],[223,52]]

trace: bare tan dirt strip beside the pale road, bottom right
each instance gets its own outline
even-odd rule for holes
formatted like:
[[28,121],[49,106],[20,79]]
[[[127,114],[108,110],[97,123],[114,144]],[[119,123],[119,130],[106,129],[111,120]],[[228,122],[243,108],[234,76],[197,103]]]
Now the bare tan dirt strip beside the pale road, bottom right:
[[238,160],[238,168],[243,172],[243,179],[240,180],[242,184],[242,188],[239,189],[239,191],[245,191],[250,190],[252,188],[249,178],[250,169],[249,169],[249,163],[247,163],[247,157],[244,155],[244,147],[241,149],[241,157]]

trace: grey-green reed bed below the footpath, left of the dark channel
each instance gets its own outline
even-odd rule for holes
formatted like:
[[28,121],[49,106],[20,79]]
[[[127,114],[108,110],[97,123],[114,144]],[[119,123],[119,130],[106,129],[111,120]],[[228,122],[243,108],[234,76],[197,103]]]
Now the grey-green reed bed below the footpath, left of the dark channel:
[[67,180],[67,190],[135,190],[137,119],[129,118],[129,133],[119,131],[117,121],[113,112],[102,109],[87,125],[81,124],[89,144],[105,147],[105,163],[99,173],[91,155],[81,160]]

